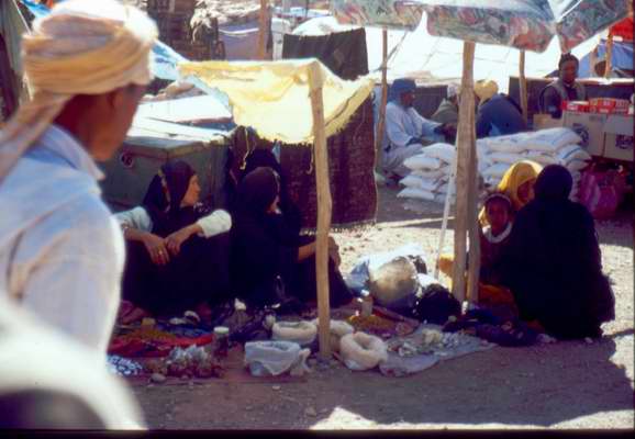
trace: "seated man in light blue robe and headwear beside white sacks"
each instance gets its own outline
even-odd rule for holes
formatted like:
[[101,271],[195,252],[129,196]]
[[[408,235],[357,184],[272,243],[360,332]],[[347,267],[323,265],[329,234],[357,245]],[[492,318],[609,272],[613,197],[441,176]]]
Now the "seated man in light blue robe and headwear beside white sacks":
[[390,88],[391,99],[386,105],[386,133],[383,134],[383,171],[400,179],[410,173],[403,160],[421,153],[423,145],[444,142],[453,136],[453,124],[441,124],[421,116],[413,106],[416,85],[412,79],[397,79]]

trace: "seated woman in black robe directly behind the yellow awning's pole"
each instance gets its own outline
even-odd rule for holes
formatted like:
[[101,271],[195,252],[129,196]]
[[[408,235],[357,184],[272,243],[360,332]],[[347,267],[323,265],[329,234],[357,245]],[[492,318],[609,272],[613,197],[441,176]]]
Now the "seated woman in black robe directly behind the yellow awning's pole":
[[[256,168],[238,184],[232,212],[232,289],[255,307],[272,306],[285,297],[308,304],[318,296],[314,238],[289,233],[278,207],[279,190],[271,168]],[[328,238],[328,252],[331,305],[337,307],[353,295],[337,269],[333,238]]]

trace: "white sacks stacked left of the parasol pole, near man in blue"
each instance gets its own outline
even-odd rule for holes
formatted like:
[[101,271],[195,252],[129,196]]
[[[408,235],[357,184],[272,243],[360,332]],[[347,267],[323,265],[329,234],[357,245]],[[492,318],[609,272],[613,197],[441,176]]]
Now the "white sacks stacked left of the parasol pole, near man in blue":
[[[487,160],[487,153],[482,145],[477,148],[479,172],[491,165]],[[438,143],[423,147],[421,154],[403,161],[412,172],[400,181],[405,188],[397,196],[445,203],[455,159],[454,145]],[[450,199],[450,203],[454,204],[455,200],[456,195]]]

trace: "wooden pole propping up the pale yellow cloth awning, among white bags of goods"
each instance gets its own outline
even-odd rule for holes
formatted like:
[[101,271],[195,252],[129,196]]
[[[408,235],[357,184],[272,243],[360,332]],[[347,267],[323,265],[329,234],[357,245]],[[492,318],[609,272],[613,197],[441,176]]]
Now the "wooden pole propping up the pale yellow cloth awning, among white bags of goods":
[[324,78],[318,63],[309,66],[309,86],[313,111],[313,148],[315,153],[315,182],[318,187],[318,234],[315,270],[318,279],[318,319],[320,357],[331,358],[331,305],[328,303],[328,230],[331,229],[331,184],[328,182],[328,149],[324,132]]

